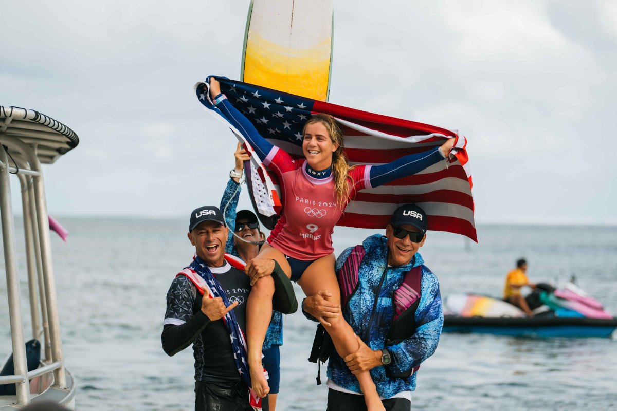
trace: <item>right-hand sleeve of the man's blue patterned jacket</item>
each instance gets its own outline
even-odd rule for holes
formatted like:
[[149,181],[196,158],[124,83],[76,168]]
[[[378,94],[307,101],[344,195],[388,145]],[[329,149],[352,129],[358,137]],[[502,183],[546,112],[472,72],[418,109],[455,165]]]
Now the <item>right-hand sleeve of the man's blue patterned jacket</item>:
[[422,273],[420,304],[415,315],[416,331],[407,340],[386,347],[393,357],[390,369],[394,373],[404,373],[420,365],[433,355],[444,325],[444,312],[441,306],[439,281],[430,271]]

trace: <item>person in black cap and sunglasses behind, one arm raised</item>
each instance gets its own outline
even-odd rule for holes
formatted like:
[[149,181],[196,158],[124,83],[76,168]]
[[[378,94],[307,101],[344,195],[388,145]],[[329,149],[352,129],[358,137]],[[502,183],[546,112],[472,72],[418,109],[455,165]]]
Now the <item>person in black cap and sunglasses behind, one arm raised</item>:
[[[257,242],[263,243],[263,239],[260,236],[259,221],[255,213],[251,210],[240,210],[236,213],[244,161],[249,160],[249,155],[242,149],[240,143],[236,147],[234,158],[236,166],[230,171],[230,180],[227,182],[220,206],[220,209],[225,213],[225,222],[230,227],[225,252],[241,258],[244,262],[249,262],[259,254],[260,245]],[[268,371],[268,384],[270,385],[270,393],[268,393],[270,411],[276,410],[276,397],[280,387],[279,347],[281,345],[283,345],[283,314],[272,311],[272,319],[270,325],[268,325],[262,346],[262,364]]]

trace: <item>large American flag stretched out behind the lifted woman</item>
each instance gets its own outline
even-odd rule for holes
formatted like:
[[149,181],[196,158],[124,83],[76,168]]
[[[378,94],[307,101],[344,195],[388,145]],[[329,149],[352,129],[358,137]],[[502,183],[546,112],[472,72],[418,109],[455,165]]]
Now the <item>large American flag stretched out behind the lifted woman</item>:
[[[404,155],[431,150],[450,137],[457,137],[449,161],[440,161],[420,173],[381,187],[361,190],[349,202],[337,225],[383,229],[397,206],[416,203],[428,214],[429,230],[462,234],[478,241],[471,192],[473,184],[464,136],[429,124],[363,112],[241,81],[217,79],[221,91],[254,124],[257,131],[294,158],[304,157],[302,128],[310,116],[317,113],[329,114],[341,124],[350,165],[389,163]],[[262,197],[268,201],[270,211],[260,208],[259,212],[265,215],[278,213],[281,208],[281,199],[276,192],[278,177],[263,166],[239,131],[212,104],[208,90],[207,82],[197,83],[197,99],[244,142],[263,182]],[[282,201],[284,203],[284,198]]]

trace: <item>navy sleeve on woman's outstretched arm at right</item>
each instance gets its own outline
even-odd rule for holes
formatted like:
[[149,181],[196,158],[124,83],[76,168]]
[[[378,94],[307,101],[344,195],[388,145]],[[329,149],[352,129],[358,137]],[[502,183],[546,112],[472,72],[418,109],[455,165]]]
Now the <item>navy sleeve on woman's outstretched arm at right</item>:
[[444,160],[444,156],[441,155],[439,147],[435,147],[429,152],[406,155],[392,161],[392,163],[371,166],[369,171],[371,187],[379,187],[379,185],[384,185],[392,180],[411,176],[439,163],[441,160]]

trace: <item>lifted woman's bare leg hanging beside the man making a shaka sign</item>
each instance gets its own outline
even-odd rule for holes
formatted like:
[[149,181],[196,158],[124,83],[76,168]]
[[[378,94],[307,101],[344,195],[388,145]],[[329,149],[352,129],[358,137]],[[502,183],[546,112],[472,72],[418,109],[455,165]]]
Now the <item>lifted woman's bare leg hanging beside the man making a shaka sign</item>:
[[[275,259],[285,274],[291,277],[291,268],[287,259],[276,248],[264,244],[257,258]],[[249,351],[247,360],[249,361],[252,389],[260,397],[264,397],[270,391],[268,381],[262,372],[262,346],[268,331],[268,324],[270,324],[272,318],[273,295],[274,280],[271,275],[267,275],[257,280],[246,301],[246,345]]]

